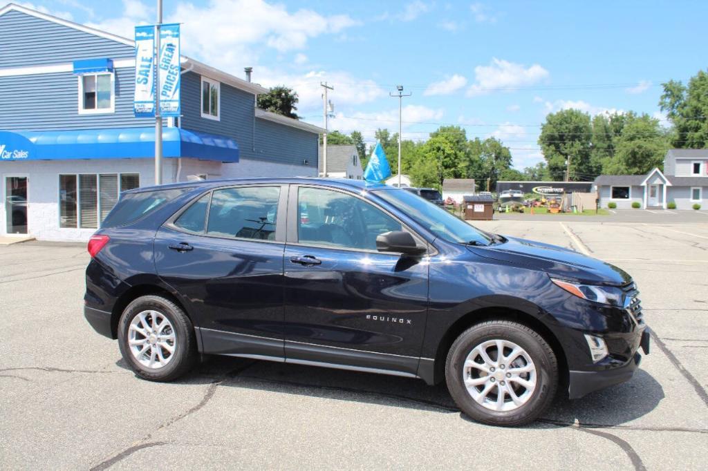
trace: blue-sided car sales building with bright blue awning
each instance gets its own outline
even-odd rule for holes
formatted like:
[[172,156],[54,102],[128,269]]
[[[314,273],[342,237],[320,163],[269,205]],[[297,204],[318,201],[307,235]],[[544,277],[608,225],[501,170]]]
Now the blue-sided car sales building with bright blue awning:
[[[133,115],[135,42],[0,9],[0,236],[88,240],[121,191],[154,184],[154,118]],[[267,90],[181,57],[163,182],[315,176],[319,127],[260,110]]]

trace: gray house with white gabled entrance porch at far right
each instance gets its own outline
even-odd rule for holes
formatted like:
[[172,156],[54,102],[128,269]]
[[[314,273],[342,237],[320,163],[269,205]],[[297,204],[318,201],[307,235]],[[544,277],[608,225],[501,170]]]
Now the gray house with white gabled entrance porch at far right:
[[646,175],[600,175],[593,182],[600,206],[615,202],[627,209],[638,202],[643,209],[708,210],[708,149],[671,149],[664,157],[664,171],[654,168]]

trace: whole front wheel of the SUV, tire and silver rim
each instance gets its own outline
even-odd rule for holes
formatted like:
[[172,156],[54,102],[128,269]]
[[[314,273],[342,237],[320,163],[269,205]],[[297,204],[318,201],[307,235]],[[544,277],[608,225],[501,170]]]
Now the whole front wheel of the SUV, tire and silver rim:
[[558,365],[538,332],[518,322],[489,320],[457,337],[447,354],[445,379],[452,399],[472,419],[518,426],[551,404]]

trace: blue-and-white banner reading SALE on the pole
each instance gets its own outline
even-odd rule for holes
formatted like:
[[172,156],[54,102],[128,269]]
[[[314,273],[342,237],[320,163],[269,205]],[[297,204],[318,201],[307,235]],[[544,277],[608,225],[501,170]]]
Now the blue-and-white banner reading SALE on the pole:
[[135,27],[135,117],[155,116],[155,27]]

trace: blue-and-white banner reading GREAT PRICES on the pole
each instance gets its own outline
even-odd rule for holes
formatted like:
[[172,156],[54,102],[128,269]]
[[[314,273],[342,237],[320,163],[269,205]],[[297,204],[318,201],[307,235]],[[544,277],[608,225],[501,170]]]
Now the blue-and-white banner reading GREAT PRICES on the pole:
[[180,115],[179,23],[160,25],[160,114]]

